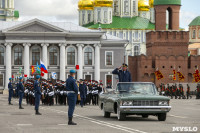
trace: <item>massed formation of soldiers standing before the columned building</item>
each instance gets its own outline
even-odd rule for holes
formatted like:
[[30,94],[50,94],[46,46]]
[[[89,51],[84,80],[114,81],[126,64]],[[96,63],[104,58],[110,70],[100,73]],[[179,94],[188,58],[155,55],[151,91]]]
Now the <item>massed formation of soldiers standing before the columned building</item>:
[[[25,82],[25,99],[27,104],[35,104],[34,92],[34,79],[29,79]],[[103,84],[95,80],[87,81],[81,79],[77,81],[79,87],[79,94],[77,104],[80,103],[81,107],[87,104],[98,105],[99,94],[104,91]],[[41,101],[43,105],[52,106],[67,105],[67,91],[64,81],[57,80],[52,82],[49,80],[41,79],[40,87],[42,88]]]

